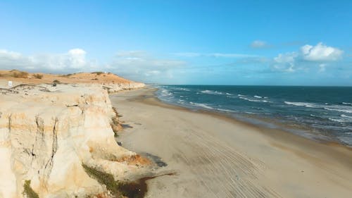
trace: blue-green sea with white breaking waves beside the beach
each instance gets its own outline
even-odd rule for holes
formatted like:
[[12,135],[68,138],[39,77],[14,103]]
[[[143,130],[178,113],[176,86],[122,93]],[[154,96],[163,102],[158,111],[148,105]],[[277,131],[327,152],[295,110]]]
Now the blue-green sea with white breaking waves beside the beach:
[[352,147],[352,87],[158,85],[161,101]]

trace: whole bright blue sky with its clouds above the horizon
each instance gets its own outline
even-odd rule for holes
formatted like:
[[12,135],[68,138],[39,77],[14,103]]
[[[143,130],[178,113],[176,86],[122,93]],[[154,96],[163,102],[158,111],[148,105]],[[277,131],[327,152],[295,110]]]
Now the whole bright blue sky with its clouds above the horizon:
[[0,1],[0,69],[352,85],[352,1]]

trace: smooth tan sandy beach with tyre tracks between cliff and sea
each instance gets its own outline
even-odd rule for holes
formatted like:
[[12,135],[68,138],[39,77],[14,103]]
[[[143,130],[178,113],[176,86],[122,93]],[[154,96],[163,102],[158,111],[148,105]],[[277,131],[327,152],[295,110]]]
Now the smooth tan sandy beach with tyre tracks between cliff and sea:
[[123,147],[159,156],[146,197],[351,197],[352,150],[163,104],[154,89],[110,96]]

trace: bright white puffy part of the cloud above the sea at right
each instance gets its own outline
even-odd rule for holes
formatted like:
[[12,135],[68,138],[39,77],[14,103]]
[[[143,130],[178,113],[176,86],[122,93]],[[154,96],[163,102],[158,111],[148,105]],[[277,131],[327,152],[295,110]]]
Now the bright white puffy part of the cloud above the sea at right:
[[306,44],[301,47],[303,59],[306,61],[337,61],[344,51],[334,47],[328,47],[322,42],[315,46]]

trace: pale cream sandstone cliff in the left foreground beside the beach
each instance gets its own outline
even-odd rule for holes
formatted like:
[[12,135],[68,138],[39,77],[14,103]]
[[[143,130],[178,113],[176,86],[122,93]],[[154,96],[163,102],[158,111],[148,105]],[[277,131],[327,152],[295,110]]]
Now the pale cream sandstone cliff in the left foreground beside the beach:
[[26,85],[1,93],[0,197],[25,197],[26,180],[39,197],[106,192],[82,164],[111,173],[115,180],[139,170],[119,162],[135,154],[116,144],[111,129],[115,113],[100,86]]

